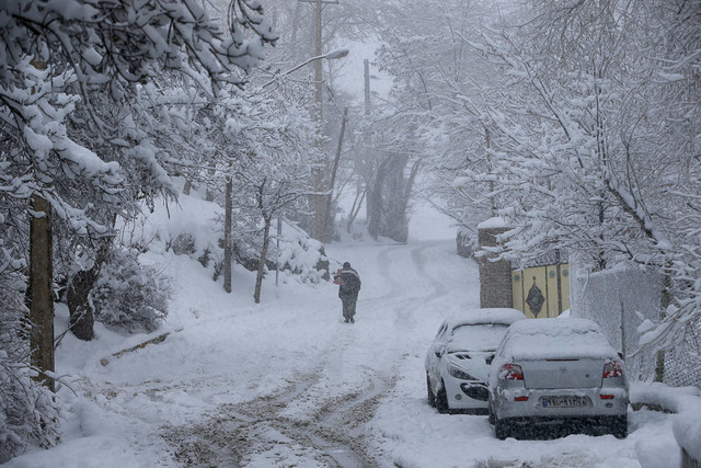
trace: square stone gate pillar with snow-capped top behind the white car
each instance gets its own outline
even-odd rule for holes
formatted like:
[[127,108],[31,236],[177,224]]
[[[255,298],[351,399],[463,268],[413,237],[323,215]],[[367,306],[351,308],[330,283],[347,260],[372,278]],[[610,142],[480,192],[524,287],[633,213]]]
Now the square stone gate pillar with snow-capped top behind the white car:
[[[496,247],[497,236],[508,231],[498,218],[492,218],[478,227],[479,250],[484,247]],[[513,307],[512,297],[512,262],[508,260],[493,261],[494,255],[481,255],[480,265],[480,307]]]

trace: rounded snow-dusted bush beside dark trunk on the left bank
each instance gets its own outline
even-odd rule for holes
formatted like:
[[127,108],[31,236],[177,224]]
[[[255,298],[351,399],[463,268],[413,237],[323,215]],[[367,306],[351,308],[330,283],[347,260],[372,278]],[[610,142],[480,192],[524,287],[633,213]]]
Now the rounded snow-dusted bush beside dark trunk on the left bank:
[[128,332],[152,332],[168,315],[170,282],[139,264],[137,252],[116,249],[90,293],[95,319]]

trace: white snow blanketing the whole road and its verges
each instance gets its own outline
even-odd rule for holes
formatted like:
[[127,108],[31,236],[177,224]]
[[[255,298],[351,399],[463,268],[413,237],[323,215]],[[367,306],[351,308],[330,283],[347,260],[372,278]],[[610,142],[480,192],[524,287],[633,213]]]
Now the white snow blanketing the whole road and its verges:
[[[100,324],[92,342],[66,335],[56,357],[66,383],[62,442],[7,466],[679,464],[674,415],[660,412],[631,412],[631,434],[622,441],[502,442],[486,416],[429,408],[424,353],[446,315],[479,305],[478,269],[455,253],[448,221],[421,210],[413,219],[407,244],[327,246],[363,278],[355,324],[343,322],[331,283],[281,276],[275,286],[271,274],[255,305],[252,273],[237,269],[229,295],[186,256],[145,254],[143,262],[173,277],[168,321],[150,335],[125,336]],[[58,307],[57,331],[67,323]],[[160,344],[113,355],[165,332]]]

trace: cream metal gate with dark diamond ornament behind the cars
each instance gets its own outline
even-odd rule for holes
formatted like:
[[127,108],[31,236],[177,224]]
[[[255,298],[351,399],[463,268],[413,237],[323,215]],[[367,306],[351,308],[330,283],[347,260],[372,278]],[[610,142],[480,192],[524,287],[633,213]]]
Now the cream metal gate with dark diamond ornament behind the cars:
[[514,308],[529,318],[558,317],[570,308],[570,265],[532,266],[512,271]]

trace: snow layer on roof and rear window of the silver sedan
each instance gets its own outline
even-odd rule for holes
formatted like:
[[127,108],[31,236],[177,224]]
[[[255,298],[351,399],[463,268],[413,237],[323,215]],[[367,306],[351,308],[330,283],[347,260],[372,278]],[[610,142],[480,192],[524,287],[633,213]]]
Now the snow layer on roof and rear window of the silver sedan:
[[601,328],[587,319],[522,320],[509,327],[502,346],[502,355],[515,359],[617,356]]

